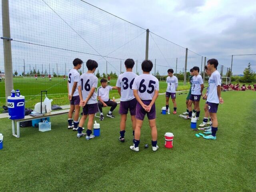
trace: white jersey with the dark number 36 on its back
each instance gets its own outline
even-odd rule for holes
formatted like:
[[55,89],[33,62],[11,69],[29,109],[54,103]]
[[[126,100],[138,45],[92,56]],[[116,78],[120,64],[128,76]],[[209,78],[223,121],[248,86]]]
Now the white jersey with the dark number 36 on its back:
[[118,76],[116,86],[121,88],[120,101],[130,101],[134,99],[132,84],[137,77],[133,72],[125,72]]

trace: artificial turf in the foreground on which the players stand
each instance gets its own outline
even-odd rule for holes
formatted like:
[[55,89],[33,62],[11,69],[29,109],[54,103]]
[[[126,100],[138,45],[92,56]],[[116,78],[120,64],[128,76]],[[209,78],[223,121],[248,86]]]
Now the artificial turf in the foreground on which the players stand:
[[[217,140],[196,138],[190,121],[177,115],[186,110],[185,95],[177,96],[177,115],[161,115],[164,95],[156,101],[159,150],[152,152],[150,128],[142,128],[140,152],[132,144],[131,122],[126,142],[118,141],[120,116],[100,122],[101,136],[76,138],[67,116],[51,118],[52,130],[21,128],[12,136],[5,126],[0,150],[0,191],[256,191],[256,92],[222,92]],[[203,111],[204,102],[200,107]],[[119,106],[118,106],[119,107]],[[104,113],[108,111],[104,108]],[[204,112],[200,114],[202,122]],[[86,127],[86,126],[85,126]],[[174,148],[164,148],[165,132],[174,133]],[[202,131],[200,131],[202,132]],[[144,149],[144,144],[149,144]]]

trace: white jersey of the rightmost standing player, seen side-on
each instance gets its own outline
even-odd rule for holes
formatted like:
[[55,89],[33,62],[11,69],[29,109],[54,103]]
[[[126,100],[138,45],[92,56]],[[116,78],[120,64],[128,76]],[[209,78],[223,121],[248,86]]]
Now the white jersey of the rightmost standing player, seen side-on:
[[218,98],[217,86],[221,85],[220,73],[216,70],[209,78],[209,92],[207,96],[207,101],[210,103],[220,103]]

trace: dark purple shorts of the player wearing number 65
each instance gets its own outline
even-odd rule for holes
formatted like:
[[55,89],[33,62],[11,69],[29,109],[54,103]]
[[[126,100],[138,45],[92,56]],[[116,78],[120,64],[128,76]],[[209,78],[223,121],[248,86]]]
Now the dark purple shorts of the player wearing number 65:
[[[142,100],[142,102],[145,104],[145,105],[149,105],[151,100]],[[152,105],[152,108],[150,110],[150,112],[146,112],[144,110],[144,108],[140,105],[139,102],[137,102],[137,106],[136,106],[136,119],[138,120],[144,120],[144,117],[145,115],[147,114],[148,116],[148,120],[152,120],[152,119],[155,119],[156,118],[156,106],[155,104]]]

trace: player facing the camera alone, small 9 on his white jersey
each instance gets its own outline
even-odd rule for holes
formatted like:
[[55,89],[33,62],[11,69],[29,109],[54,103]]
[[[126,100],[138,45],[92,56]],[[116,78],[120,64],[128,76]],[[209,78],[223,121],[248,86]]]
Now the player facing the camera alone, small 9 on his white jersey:
[[[178,78],[173,75],[173,69],[168,69],[168,77],[166,78],[167,89],[166,89],[166,111],[169,108],[169,99],[172,98],[173,102],[173,114],[176,114],[177,104],[176,104],[176,89],[178,88]],[[168,112],[170,114],[170,112]]]

